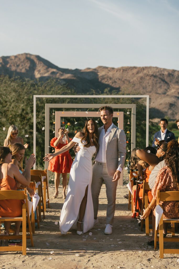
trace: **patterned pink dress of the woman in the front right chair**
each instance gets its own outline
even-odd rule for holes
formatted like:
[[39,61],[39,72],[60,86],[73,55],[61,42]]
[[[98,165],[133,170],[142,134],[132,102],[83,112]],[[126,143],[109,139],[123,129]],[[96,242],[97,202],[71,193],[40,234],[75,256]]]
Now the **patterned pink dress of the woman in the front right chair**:
[[[177,186],[173,186],[173,177],[169,167],[165,166],[159,170],[158,175],[155,180],[155,185],[152,188],[152,195],[154,199],[157,199],[158,190],[162,192],[169,192],[178,190]],[[160,205],[163,207],[163,218],[179,218],[179,214],[177,215],[175,208],[176,202],[160,202]],[[155,215],[155,208],[154,208]]]

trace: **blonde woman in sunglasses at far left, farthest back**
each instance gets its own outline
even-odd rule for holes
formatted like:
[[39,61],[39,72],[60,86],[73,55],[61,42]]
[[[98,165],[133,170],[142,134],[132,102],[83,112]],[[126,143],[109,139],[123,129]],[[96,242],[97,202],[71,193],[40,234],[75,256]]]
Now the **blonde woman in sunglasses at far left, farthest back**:
[[[18,132],[19,131],[16,125],[11,125],[9,127],[7,137],[4,140],[4,147],[11,148],[11,145],[13,145],[14,143],[21,143],[24,145],[24,140],[22,137],[18,136]],[[28,144],[26,143],[24,147],[28,148]]]

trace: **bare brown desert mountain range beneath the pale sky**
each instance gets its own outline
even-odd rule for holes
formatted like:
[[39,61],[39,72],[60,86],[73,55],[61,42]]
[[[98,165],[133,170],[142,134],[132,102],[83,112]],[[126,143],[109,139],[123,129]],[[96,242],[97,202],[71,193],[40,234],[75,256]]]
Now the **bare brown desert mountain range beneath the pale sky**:
[[0,57],[0,75],[47,80],[56,78],[78,93],[90,89],[117,90],[124,94],[148,94],[150,118],[179,117],[179,71],[158,67],[64,69],[38,55],[18,54]]

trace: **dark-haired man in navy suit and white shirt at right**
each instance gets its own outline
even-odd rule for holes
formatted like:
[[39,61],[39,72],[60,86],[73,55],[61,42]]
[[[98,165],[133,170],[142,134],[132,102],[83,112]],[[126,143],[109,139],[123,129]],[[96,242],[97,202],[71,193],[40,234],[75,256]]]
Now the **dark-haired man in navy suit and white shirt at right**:
[[155,141],[155,138],[158,139],[159,141],[160,140],[165,140],[165,142],[167,142],[167,143],[169,141],[175,139],[174,133],[167,130],[167,125],[168,125],[167,119],[161,119],[160,120],[161,130],[154,134],[154,141],[152,143],[152,147],[157,147],[159,145],[159,142]]

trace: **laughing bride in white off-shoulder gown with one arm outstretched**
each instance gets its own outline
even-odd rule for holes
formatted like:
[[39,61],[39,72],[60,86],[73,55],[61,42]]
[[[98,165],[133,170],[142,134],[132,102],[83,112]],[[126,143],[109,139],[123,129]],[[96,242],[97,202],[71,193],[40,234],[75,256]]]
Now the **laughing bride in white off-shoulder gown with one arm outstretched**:
[[[44,161],[64,153],[78,143],[80,150],[76,154],[70,170],[67,197],[60,215],[60,231],[66,234],[71,228],[81,235],[94,226],[94,211],[91,194],[92,156],[98,148],[98,127],[94,119],[87,119],[82,132],[76,133],[69,144],[56,153],[46,154]],[[83,228],[82,228],[83,223]]]

